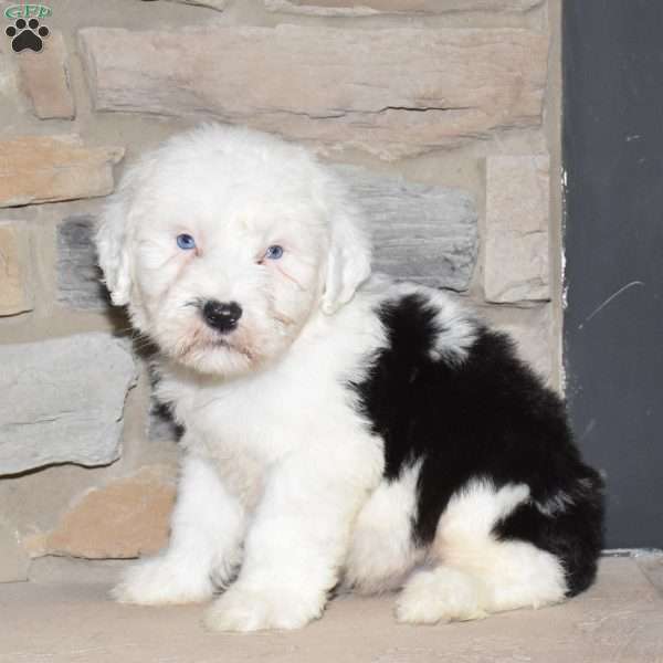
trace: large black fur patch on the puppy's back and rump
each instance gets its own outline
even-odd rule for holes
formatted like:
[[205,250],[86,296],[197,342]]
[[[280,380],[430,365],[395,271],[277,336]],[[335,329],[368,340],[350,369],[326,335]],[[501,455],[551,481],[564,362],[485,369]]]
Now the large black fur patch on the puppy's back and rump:
[[[499,488],[529,486],[532,502],[495,527],[556,555],[568,594],[594,578],[602,546],[602,482],[573,444],[562,401],[520,361],[511,339],[484,326],[467,358],[435,359],[438,311],[408,295],[379,311],[387,347],[352,388],[373,432],[385,441],[385,476],[392,481],[421,461],[414,535],[429,544],[451,496],[473,478]],[[562,508],[541,513],[535,503]],[[549,502],[552,501],[552,502]]]

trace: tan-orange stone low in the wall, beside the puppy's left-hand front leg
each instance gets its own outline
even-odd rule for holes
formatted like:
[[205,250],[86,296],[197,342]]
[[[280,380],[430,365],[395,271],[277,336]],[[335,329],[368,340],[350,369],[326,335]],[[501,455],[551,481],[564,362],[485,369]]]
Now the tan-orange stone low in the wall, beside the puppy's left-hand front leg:
[[173,503],[172,469],[143,467],[78,498],[46,536],[42,552],[90,559],[157,552],[168,543]]

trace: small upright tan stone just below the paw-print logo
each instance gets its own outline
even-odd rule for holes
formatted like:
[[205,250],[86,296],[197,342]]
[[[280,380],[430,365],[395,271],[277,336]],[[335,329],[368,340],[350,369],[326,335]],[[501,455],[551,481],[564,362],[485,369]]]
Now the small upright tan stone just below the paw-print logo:
[[73,119],[76,108],[62,34],[52,31],[39,53],[25,50],[17,60],[21,87],[32,103],[34,114],[42,119]]

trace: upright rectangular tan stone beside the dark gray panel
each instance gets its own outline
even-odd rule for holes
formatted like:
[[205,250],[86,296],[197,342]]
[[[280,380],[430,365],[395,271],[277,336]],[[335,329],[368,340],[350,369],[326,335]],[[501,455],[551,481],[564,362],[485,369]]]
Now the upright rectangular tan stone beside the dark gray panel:
[[484,292],[490,302],[550,298],[549,160],[486,159]]

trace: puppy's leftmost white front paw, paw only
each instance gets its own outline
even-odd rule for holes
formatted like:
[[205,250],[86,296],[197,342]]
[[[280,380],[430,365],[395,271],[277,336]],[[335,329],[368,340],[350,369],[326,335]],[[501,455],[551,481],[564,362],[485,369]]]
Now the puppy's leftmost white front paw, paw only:
[[140,606],[197,603],[211,598],[212,582],[191,562],[155,557],[130,567],[110,594],[120,603]]

